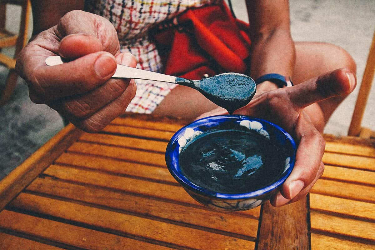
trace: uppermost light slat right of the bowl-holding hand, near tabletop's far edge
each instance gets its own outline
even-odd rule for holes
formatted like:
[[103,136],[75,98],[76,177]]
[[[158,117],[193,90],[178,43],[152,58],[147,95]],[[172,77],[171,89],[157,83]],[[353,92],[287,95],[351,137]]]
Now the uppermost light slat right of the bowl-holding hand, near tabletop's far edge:
[[357,156],[375,157],[375,147],[368,145],[353,145],[338,141],[326,141],[326,152],[351,154]]

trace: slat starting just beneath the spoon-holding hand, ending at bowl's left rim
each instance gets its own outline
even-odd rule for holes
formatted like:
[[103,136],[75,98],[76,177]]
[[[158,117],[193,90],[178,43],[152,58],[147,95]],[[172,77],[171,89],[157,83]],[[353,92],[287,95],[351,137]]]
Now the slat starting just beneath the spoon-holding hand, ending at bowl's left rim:
[[84,133],[80,141],[108,144],[113,146],[136,148],[141,150],[151,150],[165,153],[167,142],[153,141],[147,139],[131,138],[118,135],[89,134]]

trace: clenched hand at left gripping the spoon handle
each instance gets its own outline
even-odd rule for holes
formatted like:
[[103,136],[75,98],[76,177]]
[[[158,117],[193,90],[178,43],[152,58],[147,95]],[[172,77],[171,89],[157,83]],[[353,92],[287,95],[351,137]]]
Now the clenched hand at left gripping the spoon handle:
[[[47,66],[50,55],[75,60]],[[33,102],[47,104],[80,129],[98,132],[135,96],[133,80],[111,79],[117,63],[136,66],[133,55],[120,53],[113,25],[101,16],[74,10],[20,52],[16,70],[27,82]]]

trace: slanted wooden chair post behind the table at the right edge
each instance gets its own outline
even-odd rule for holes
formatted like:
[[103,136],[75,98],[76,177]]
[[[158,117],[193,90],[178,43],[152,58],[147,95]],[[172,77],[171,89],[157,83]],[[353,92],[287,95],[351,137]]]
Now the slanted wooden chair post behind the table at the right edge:
[[371,90],[372,81],[375,73],[375,33],[372,38],[369,56],[366,63],[365,72],[363,73],[361,87],[358,93],[356,106],[350,123],[348,135],[359,136],[361,138],[375,138],[375,131],[362,127],[362,118],[365,113],[366,103]]

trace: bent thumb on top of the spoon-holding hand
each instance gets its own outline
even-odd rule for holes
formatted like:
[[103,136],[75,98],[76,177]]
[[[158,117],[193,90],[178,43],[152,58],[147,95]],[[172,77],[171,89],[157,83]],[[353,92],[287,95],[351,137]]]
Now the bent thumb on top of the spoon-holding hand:
[[117,32],[110,21],[92,13],[73,10],[66,13],[57,25],[60,35],[59,54],[65,58],[107,51],[120,52]]

